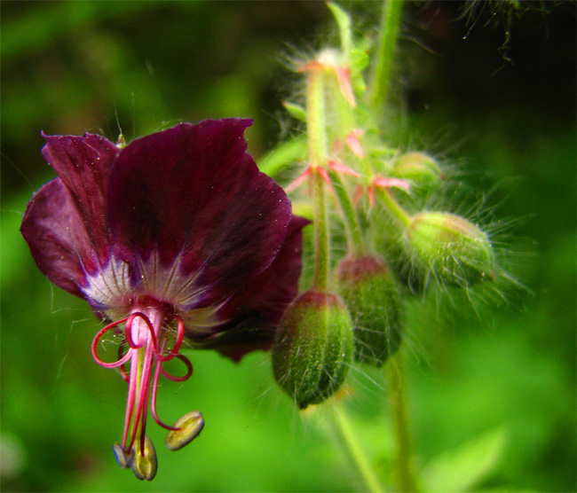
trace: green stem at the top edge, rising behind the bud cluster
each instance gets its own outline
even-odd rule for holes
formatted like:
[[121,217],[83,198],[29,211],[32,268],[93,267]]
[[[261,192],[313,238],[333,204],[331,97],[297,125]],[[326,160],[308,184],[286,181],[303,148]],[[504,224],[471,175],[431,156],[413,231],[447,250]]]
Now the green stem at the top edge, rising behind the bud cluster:
[[399,36],[400,14],[404,0],[384,0],[375,67],[370,83],[369,104],[376,110],[386,102],[391,82],[392,59]]

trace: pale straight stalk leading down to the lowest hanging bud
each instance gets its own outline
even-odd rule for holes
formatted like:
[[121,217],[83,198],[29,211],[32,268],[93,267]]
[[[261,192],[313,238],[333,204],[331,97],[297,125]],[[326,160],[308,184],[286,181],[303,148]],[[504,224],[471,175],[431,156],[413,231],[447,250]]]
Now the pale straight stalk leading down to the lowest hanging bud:
[[306,127],[311,167],[311,192],[314,205],[314,279],[312,288],[328,291],[328,217],[325,184],[319,168],[327,165],[327,129],[325,128],[324,69],[309,71],[306,93]]

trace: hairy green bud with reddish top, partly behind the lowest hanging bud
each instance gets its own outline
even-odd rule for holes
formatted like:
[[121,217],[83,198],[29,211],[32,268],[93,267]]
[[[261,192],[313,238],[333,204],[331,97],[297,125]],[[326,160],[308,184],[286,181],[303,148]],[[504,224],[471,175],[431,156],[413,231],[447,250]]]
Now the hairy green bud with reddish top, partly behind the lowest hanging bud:
[[382,366],[400,345],[395,279],[382,261],[368,255],[344,258],[336,266],[336,280],[352,315],[355,359]]

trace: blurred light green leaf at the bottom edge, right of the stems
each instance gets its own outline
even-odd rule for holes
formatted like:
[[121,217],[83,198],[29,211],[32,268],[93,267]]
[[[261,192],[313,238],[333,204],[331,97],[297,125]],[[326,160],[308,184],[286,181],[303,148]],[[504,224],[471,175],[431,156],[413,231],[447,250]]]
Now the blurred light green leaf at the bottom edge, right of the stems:
[[423,471],[425,491],[470,491],[494,470],[507,436],[502,428],[465,442],[456,450],[432,458]]

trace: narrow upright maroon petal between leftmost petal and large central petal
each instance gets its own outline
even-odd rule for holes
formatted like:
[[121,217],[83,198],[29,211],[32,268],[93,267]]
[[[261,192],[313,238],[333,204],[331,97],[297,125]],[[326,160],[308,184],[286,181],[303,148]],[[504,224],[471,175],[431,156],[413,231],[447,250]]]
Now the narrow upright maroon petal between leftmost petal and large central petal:
[[108,257],[107,179],[118,148],[106,138],[85,134],[45,136],[42,154],[72,194],[99,261]]

